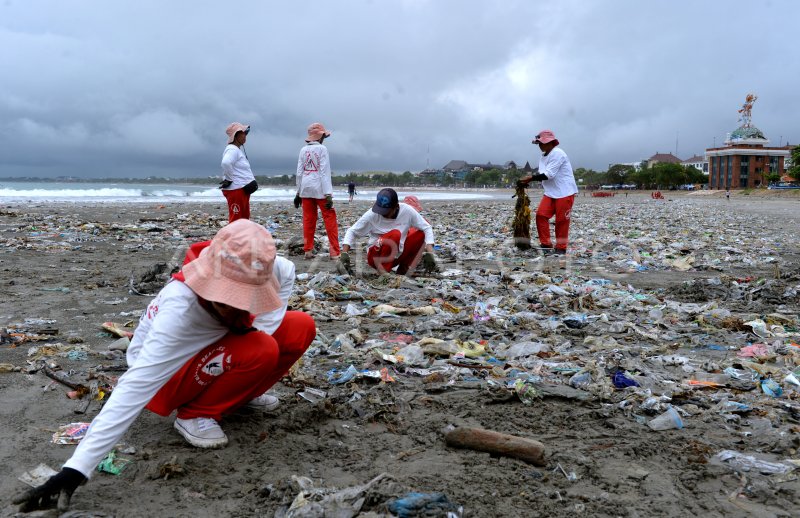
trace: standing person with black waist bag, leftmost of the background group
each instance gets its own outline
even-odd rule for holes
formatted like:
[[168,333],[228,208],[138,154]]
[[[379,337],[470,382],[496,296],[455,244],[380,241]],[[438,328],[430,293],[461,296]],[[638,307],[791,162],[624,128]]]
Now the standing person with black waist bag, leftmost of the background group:
[[220,188],[228,201],[228,222],[250,219],[250,195],[258,189],[258,183],[250,169],[244,152],[244,143],[250,126],[241,122],[231,123],[225,133],[228,145],[222,153],[222,182]]

